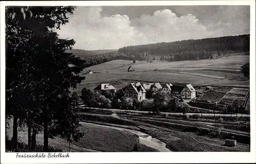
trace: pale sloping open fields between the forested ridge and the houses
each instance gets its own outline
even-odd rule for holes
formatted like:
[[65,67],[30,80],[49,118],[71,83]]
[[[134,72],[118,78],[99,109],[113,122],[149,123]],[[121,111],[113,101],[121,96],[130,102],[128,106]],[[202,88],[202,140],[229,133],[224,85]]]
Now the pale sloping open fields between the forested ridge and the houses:
[[[122,88],[130,82],[162,82],[162,83],[191,83],[200,85],[246,85],[249,80],[242,79],[240,67],[249,62],[248,55],[224,56],[219,59],[186,60],[186,61],[136,61],[113,60],[84,69],[96,72],[92,75],[84,75],[86,79],[78,86],[78,90],[84,87],[94,88],[100,83],[114,83],[116,88]],[[127,72],[132,65],[135,72]],[[155,69],[158,71],[154,71]]]

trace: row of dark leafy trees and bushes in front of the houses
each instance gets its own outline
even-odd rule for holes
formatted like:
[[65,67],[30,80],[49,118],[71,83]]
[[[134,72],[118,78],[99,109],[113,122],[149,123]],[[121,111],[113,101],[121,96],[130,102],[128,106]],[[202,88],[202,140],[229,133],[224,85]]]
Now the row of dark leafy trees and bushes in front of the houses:
[[137,99],[124,97],[124,89],[112,92],[110,90],[95,91],[93,89],[83,88],[80,98],[88,108],[142,110],[152,111],[154,113],[170,111],[186,113],[189,109],[177,97],[165,95],[158,91],[153,92],[152,99],[145,99],[139,102]]

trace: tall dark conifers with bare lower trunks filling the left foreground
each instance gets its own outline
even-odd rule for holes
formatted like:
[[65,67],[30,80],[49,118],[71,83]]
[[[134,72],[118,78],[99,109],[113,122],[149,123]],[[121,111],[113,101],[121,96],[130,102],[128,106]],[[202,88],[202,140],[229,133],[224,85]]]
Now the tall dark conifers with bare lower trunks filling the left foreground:
[[[55,29],[68,22],[75,7],[6,7],[6,128],[13,123],[12,150],[17,149],[18,129],[28,128],[28,149],[36,149],[36,135],[44,133],[43,151],[56,136],[77,142],[70,88],[84,77],[84,60],[65,53],[75,44],[60,39]],[[72,64],[73,66],[69,66]],[[7,134],[6,134],[7,136]],[[6,137],[8,138],[8,136]]]

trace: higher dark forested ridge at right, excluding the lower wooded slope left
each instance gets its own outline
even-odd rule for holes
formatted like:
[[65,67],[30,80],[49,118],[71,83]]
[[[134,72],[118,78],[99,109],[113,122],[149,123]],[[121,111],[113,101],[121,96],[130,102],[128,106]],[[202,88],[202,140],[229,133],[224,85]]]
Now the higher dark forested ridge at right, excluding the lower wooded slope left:
[[250,36],[225,36],[197,40],[182,40],[145,45],[126,46],[118,50],[119,59],[169,61],[209,59],[230,52],[249,52]]

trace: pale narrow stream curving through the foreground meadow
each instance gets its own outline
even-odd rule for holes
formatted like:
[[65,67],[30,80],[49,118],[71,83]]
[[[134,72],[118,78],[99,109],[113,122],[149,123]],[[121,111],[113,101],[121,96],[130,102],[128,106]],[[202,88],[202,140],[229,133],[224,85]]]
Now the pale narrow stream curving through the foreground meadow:
[[84,123],[84,122],[80,122],[80,123],[82,123],[82,124],[91,124],[91,125],[94,125],[94,126],[101,126],[101,127],[116,129],[116,130],[120,130],[120,131],[131,132],[133,134],[136,134],[139,137],[139,143],[140,144],[142,144],[144,146],[147,146],[147,147],[151,147],[151,148],[156,149],[160,152],[170,152],[170,150],[165,147],[166,146],[165,143],[161,142],[157,138],[153,138],[151,135],[142,133],[142,132],[137,131],[137,130],[131,130],[131,129],[125,129],[125,128],[107,126],[107,125],[99,125],[99,124],[93,124],[93,123]]

